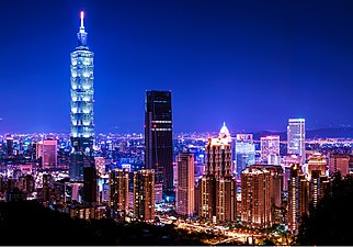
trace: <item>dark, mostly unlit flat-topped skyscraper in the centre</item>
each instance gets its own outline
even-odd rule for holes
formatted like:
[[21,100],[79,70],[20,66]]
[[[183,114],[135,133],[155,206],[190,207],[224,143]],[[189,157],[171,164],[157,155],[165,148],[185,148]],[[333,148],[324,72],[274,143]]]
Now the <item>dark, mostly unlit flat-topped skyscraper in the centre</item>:
[[173,132],[171,91],[146,91],[145,166],[155,169],[156,183],[173,194]]

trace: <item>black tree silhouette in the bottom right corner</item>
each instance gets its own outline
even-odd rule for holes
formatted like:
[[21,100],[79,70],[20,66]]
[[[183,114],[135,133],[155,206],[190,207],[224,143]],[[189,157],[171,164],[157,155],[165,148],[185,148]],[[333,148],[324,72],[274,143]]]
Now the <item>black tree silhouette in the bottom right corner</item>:
[[310,207],[299,226],[298,244],[353,246],[353,178],[333,176],[329,191],[316,209]]

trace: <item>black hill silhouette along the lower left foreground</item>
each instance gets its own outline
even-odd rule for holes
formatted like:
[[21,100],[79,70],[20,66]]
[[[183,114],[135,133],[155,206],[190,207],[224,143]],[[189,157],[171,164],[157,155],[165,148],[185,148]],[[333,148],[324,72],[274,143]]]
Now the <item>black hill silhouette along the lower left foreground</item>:
[[172,225],[71,218],[36,201],[0,202],[0,233],[8,246],[203,245]]

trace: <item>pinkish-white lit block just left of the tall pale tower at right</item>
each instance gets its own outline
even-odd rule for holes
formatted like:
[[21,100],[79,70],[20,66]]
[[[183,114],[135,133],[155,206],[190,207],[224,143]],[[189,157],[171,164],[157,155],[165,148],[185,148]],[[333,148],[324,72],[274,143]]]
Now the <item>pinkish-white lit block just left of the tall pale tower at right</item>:
[[270,165],[278,165],[272,162],[272,156],[280,157],[280,136],[263,136],[260,138],[260,144],[261,161]]

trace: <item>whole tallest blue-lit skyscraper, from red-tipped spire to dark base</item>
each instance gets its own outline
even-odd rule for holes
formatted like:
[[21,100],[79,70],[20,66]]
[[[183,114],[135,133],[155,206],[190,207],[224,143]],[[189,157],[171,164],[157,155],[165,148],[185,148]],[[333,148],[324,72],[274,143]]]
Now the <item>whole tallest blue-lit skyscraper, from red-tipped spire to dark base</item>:
[[93,157],[93,56],[87,46],[81,12],[78,46],[71,53],[71,145],[70,180],[82,181],[83,167],[94,166]]

